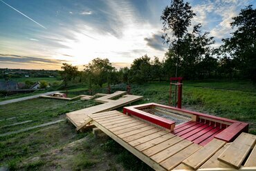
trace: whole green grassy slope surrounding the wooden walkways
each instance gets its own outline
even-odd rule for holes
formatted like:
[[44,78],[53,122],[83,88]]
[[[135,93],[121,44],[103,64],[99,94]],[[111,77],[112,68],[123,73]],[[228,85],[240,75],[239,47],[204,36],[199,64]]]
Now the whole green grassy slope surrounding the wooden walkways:
[[[255,86],[244,84],[185,81],[183,108],[246,121],[250,123],[250,133],[256,134]],[[168,103],[169,83],[146,83],[131,88],[133,94],[144,96],[134,104]],[[111,88],[112,91],[125,89],[125,84]],[[83,87],[69,92],[70,96],[84,93]],[[32,99],[0,105],[0,134],[64,119],[66,112],[95,104],[94,101]],[[23,123],[26,121],[29,122]],[[106,137],[95,139],[91,131],[76,134],[73,125],[65,121],[0,137],[0,165],[10,170],[151,170],[115,141]]]

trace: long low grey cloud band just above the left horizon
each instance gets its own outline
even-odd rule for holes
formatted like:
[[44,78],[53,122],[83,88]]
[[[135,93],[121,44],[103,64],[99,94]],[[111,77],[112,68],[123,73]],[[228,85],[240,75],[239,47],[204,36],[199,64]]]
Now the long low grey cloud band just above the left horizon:
[[1,62],[8,63],[33,63],[33,64],[50,64],[50,65],[61,65],[64,60],[58,59],[46,59],[46,58],[37,58],[37,57],[26,57],[17,54],[0,54]]

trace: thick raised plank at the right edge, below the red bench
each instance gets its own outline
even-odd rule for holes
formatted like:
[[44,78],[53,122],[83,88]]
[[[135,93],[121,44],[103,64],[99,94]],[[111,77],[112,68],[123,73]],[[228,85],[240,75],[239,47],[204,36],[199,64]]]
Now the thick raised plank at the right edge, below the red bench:
[[243,132],[235,139],[230,147],[218,157],[218,160],[238,169],[250,149],[255,145],[255,142],[255,135]]

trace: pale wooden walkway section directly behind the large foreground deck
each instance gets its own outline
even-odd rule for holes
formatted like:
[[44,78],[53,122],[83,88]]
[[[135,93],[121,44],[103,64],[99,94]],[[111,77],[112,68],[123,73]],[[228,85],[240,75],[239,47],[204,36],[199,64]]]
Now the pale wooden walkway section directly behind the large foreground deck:
[[[120,95],[120,94],[118,94]],[[111,94],[107,95],[106,98],[109,98]],[[111,96],[113,98],[113,96]],[[88,114],[94,114],[98,112],[104,112],[104,111],[109,111],[109,110],[114,110],[116,108],[120,108],[124,105],[127,105],[129,103],[132,103],[134,101],[138,101],[140,99],[143,99],[141,96],[135,96],[135,95],[125,95],[124,97],[117,99],[117,100],[111,100],[110,102],[107,103],[102,103],[100,105],[94,105],[90,108],[84,108],[82,110],[76,110],[74,112],[69,112],[66,114],[66,117],[75,127],[77,130],[82,128],[84,126],[84,123],[86,119],[88,119],[87,115]]]

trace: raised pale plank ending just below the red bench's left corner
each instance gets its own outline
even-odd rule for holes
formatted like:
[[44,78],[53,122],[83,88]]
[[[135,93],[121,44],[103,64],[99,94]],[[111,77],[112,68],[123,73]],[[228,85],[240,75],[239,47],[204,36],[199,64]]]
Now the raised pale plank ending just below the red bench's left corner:
[[225,141],[221,141],[219,139],[213,139],[210,143],[205,145],[203,148],[192,154],[190,157],[182,161],[183,164],[188,167],[196,170],[198,169],[205,161],[210,159],[215,152],[225,145]]

